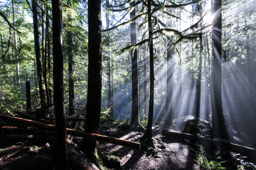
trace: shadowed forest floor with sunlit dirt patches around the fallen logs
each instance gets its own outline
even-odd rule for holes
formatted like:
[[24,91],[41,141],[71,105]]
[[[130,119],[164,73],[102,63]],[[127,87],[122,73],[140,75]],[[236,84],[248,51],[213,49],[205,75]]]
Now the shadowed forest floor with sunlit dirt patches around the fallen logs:
[[[154,127],[157,129],[157,127]],[[115,138],[139,141],[143,131],[132,131],[128,126],[112,129],[102,128],[101,134]],[[256,166],[243,160],[243,155],[232,154],[232,159],[207,160],[204,152],[188,142],[154,136],[154,148],[133,150],[124,146],[99,143],[104,155],[120,158],[120,166],[109,169],[256,169]],[[51,146],[52,134],[4,134],[0,132],[0,169],[54,169],[54,156]],[[74,147],[81,155],[81,138],[68,139],[68,148]],[[74,152],[72,152],[74,153]],[[237,162],[238,161],[238,162]],[[89,165],[92,165],[89,163]],[[72,168],[71,168],[72,169]],[[74,169],[74,168],[73,168]],[[92,165],[92,169],[97,167]]]

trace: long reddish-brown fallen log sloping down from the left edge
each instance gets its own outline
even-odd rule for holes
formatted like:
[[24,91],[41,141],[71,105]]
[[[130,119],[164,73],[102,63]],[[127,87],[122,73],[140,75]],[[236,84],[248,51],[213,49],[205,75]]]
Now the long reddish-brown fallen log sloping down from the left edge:
[[[19,117],[10,117],[7,115],[3,115],[0,114],[0,118],[3,120],[8,120],[11,122],[15,122],[17,124],[26,124],[26,125],[32,125],[35,127],[40,127],[42,129],[45,130],[49,130],[49,131],[55,131],[55,126],[51,125],[51,124],[45,124],[45,123],[41,123],[41,122],[36,122],[35,120],[29,120],[26,118],[19,118]],[[135,148],[135,149],[140,149],[140,143],[134,142],[134,141],[128,141],[125,139],[119,139],[119,138],[112,138],[109,136],[104,136],[101,134],[90,134],[87,132],[81,132],[81,131],[77,131],[75,129],[67,129],[67,134],[71,134],[74,136],[79,136],[79,137],[83,137],[83,138],[88,138],[88,139],[94,139],[97,141],[102,141],[105,143],[113,143],[115,145],[122,145],[122,146],[127,146],[129,148]]]

